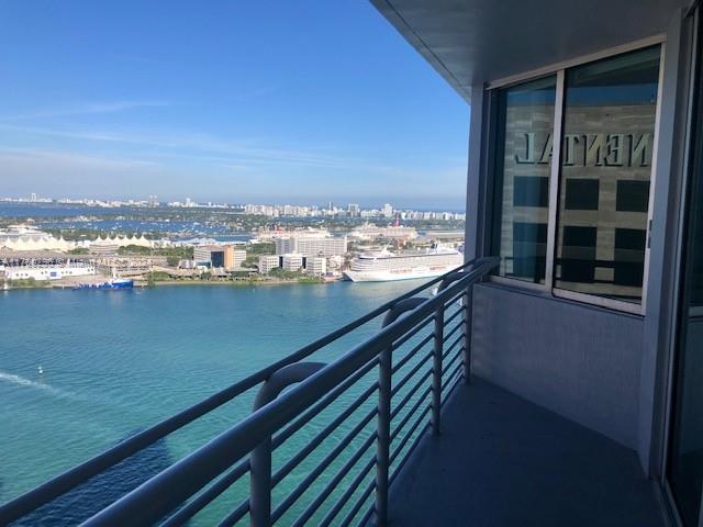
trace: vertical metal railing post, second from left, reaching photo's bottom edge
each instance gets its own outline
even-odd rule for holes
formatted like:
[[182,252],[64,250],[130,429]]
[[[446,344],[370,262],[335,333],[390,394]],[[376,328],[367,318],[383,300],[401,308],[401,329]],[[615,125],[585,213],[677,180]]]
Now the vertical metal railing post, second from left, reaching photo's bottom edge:
[[379,355],[378,431],[376,440],[376,525],[388,523],[388,480],[391,456],[392,348]]

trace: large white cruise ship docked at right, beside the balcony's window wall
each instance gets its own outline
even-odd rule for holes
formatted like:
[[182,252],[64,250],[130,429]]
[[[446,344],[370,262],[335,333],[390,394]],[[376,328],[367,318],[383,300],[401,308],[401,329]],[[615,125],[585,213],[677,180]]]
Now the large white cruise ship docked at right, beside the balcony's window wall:
[[464,264],[464,255],[447,247],[437,247],[426,251],[365,253],[352,260],[344,271],[354,282],[387,282],[391,280],[411,280],[434,278]]

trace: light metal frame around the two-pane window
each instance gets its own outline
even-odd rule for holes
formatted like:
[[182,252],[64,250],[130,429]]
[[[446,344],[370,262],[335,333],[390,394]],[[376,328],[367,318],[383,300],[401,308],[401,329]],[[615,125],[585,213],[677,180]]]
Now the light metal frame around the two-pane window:
[[[577,291],[569,291],[555,287],[555,257],[556,257],[556,242],[557,242],[557,218],[559,213],[559,191],[560,191],[560,177],[561,177],[561,145],[563,137],[563,113],[565,113],[565,93],[566,93],[566,72],[567,69],[582,66],[584,64],[593,63],[604,58],[615,57],[629,52],[636,52],[646,47],[659,45],[659,78],[657,86],[657,103],[655,106],[655,130],[652,138],[652,155],[651,155],[651,175],[649,178],[649,195],[647,200],[647,229],[645,238],[645,264],[643,272],[641,284],[641,302],[633,303],[624,300],[611,299],[607,296],[601,296],[592,293],[582,293]],[[658,150],[659,150],[659,128],[661,121],[661,99],[662,99],[662,85],[663,85],[663,71],[665,71],[665,54],[666,54],[666,35],[658,34],[649,38],[635,41],[622,46],[602,49],[598,53],[583,55],[567,61],[558,63],[544,68],[535,69],[516,76],[506,77],[503,79],[496,79],[488,82],[484,88],[487,100],[489,101],[489,121],[487,137],[487,150],[488,156],[487,177],[490,181],[490,187],[493,189],[494,195],[491,198],[491,203],[496,199],[498,189],[494,188],[495,177],[495,155],[496,144],[495,141],[500,137],[500,119],[495,111],[499,91],[501,89],[510,88],[512,86],[518,86],[533,80],[538,80],[544,77],[554,76],[557,77],[556,98],[554,109],[554,126],[553,126],[553,150],[551,150],[551,165],[549,170],[549,195],[548,195],[548,222],[547,222],[547,251],[546,251],[546,265],[545,265],[545,283],[526,282],[510,277],[491,276],[490,281],[495,283],[502,283],[518,289],[537,291],[543,294],[557,299],[571,300],[584,304],[596,305],[606,307],[614,311],[631,313],[635,315],[644,316],[647,309],[647,289],[649,283],[649,259],[650,259],[650,236],[651,236],[651,223],[655,205],[655,187],[656,175],[658,171]],[[558,138],[558,139],[557,139]],[[487,227],[494,229],[496,225],[496,218],[494,210],[491,209],[490,214],[487,217]],[[494,233],[491,232],[487,239],[492,239]],[[492,248],[487,247],[489,250]]]

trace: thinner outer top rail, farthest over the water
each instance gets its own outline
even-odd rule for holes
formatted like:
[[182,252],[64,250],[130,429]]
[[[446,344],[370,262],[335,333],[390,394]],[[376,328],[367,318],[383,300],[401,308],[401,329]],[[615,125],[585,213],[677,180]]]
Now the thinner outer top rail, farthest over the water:
[[[472,266],[478,266],[479,268],[481,268],[482,266],[484,267],[484,264],[486,261],[482,261],[482,259],[473,259],[464,264],[456,270],[468,269]],[[468,274],[470,273],[467,273],[467,276]],[[130,456],[166,437],[172,431],[182,428],[197,418],[202,417],[203,415],[222,406],[237,395],[241,395],[247,390],[250,390],[257,384],[260,384],[275,371],[309,357],[313,352],[317,351],[321,348],[324,348],[334,340],[362,326],[367,322],[372,321],[377,316],[382,315],[397,302],[414,296],[415,294],[426,290],[435,283],[440,282],[442,280],[443,277],[437,277],[429,282],[426,282],[389,302],[386,302],[384,304],[367,313],[366,315],[352,321],[345,326],[342,326],[341,328],[319,338],[317,340],[306,346],[303,346],[298,351],[289,355],[288,357],[284,357],[274,362],[272,365],[260,369],[259,371],[248,375],[241,381],[235,382],[234,384],[214,393],[213,395],[210,395],[203,401],[177,413],[176,415],[168,417],[157,423],[156,425],[153,425],[149,428],[135,434],[134,436],[125,439],[124,441],[121,441],[120,444],[105,450],[104,452],[99,453],[87,461],[83,461],[82,463],[67,470],[66,472],[55,478],[52,478],[51,480],[32,489],[31,491],[27,491],[24,494],[10,500],[9,502],[0,506],[0,525],[14,522],[15,519],[21,518],[22,516],[41,507],[42,505],[45,505],[52,500],[65,494],[66,492],[75,489],[81,483],[85,483],[92,476],[103,472],[110,467],[115,466],[120,461],[123,461]]]

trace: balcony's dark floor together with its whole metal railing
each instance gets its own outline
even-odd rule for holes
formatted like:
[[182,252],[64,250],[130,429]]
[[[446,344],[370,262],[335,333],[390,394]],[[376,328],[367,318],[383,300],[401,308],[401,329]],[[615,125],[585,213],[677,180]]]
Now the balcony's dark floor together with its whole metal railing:
[[[115,526],[661,525],[634,451],[471,379],[473,288],[496,265],[381,305],[4,504],[0,524],[70,507]],[[331,345],[350,349],[316,360]],[[164,438],[244,401],[248,416],[145,475]]]

